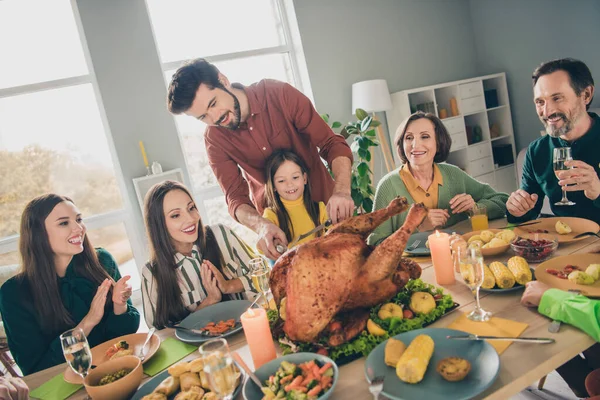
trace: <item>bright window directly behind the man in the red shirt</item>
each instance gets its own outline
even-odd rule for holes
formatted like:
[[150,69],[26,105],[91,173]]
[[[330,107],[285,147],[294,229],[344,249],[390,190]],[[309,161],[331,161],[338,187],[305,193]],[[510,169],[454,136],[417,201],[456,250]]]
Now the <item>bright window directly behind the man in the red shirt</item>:
[[[203,57],[231,82],[249,85],[264,78],[288,82],[300,90],[301,50],[291,30],[291,2],[284,0],[146,0],[165,81],[184,61]],[[286,8],[287,7],[287,8]],[[295,22],[295,21],[292,21]],[[293,43],[294,42],[294,43]],[[310,94],[309,94],[310,95]],[[205,125],[175,117],[196,199],[206,223],[223,223],[249,244],[256,235],[233,221],[208,165]]]

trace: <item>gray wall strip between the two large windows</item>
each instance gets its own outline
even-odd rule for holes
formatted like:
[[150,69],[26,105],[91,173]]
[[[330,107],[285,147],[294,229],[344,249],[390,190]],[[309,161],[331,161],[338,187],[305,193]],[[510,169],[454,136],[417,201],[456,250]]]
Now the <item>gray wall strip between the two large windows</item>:
[[[144,0],[77,0],[94,72],[139,238],[142,213],[132,179],[146,175],[138,142],[163,170],[187,169]],[[110,27],[110,28],[109,28]],[[187,175],[185,180],[189,182]],[[125,194],[125,193],[124,193]],[[138,260],[141,261],[141,260]]]

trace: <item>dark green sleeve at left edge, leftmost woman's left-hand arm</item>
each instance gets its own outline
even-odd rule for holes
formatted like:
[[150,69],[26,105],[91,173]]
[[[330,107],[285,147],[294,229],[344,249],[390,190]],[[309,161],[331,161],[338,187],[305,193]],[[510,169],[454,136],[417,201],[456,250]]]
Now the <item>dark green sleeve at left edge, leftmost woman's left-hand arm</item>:
[[[27,307],[23,285],[15,278],[0,289],[0,312],[6,330],[8,347],[24,375],[29,375],[65,362],[57,335],[44,335],[32,307]],[[50,340],[50,341],[49,341]]]

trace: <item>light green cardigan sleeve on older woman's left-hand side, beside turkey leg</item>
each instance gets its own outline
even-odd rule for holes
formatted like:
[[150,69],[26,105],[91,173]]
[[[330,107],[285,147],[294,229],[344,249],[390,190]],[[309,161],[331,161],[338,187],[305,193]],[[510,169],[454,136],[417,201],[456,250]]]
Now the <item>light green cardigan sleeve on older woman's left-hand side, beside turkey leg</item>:
[[[394,187],[394,180],[402,183],[402,180],[399,177],[399,170],[394,170],[390,172],[388,175],[383,177],[379,184],[377,185],[377,190],[375,191],[375,199],[373,201],[373,211],[381,210],[382,208],[386,208],[392,200],[394,200],[398,196],[405,196],[409,198],[407,193],[399,193],[399,190],[396,190]],[[403,184],[403,183],[402,183]],[[403,212],[400,215],[396,215],[392,218],[389,218],[387,221],[379,225],[373,233],[371,233],[367,239],[367,243],[374,246],[379,244],[382,240],[390,236],[394,233],[402,224],[404,223],[404,219],[406,219],[407,212]]]

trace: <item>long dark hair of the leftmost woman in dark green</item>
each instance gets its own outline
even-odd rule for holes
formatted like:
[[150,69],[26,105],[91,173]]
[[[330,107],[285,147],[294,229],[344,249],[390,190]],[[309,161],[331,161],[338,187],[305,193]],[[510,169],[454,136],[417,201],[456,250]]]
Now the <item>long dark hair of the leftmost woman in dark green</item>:
[[[53,334],[74,327],[69,311],[60,295],[58,277],[54,264],[54,252],[46,231],[46,218],[59,203],[73,200],[57,194],[45,194],[31,200],[21,216],[19,252],[21,268],[19,279],[26,282],[40,326]],[[74,204],[74,203],[73,203]],[[110,276],[100,264],[96,251],[87,235],[83,239],[83,251],[73,256],[77,276],[98,286]],[[111,289],[112,290],[112,289]],[[112,292],[111,292],[112,293]],[[112,304],[112,295],[107,296],[107,306]]]

